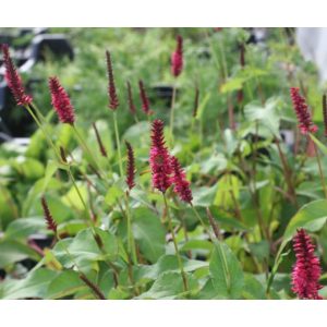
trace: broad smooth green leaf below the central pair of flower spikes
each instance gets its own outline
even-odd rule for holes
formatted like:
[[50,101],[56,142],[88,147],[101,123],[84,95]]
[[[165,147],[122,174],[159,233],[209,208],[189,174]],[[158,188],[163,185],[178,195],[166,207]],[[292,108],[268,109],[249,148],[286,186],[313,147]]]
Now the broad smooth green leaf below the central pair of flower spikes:
[[152,263],[165,253],[165,228],[159,217],[149,209],[133,210],[133,233],[142,254]]

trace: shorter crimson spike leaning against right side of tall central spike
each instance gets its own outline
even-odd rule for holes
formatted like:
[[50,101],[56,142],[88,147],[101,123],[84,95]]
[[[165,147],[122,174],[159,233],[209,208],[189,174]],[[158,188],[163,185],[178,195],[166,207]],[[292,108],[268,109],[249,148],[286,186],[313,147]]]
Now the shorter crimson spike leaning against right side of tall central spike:
[[173,191],[179,195],[179,197],[191,203],[193,199],[192,191],[190,189],[190,182],[186,180],[185,172],[183,171],[181,164],[178,158],[171,157],[172,167],[172,178],[171,182],[174,184]]

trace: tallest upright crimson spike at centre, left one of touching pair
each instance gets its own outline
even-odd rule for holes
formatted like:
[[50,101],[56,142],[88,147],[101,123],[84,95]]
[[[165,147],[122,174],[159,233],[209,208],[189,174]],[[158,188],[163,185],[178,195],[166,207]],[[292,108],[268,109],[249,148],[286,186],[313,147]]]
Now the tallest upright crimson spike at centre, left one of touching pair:
[[165,144],[164,122],[156,119],[152,125],[152,148],[149,164],[153,175],[153,186],[162,193],[171,185],[170,155]]

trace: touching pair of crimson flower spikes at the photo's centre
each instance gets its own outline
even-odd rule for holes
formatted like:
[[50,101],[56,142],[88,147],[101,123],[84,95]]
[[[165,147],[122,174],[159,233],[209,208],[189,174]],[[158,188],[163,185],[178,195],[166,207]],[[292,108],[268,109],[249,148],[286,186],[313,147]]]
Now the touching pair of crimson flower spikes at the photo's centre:
[[174,185],[173,191],[186,203],[192,202],[190,182],[175,157],[170,156],[164,137],[164,122],[155,120],[152,126],[152,148],[149,156],[153,186],[165,193]]

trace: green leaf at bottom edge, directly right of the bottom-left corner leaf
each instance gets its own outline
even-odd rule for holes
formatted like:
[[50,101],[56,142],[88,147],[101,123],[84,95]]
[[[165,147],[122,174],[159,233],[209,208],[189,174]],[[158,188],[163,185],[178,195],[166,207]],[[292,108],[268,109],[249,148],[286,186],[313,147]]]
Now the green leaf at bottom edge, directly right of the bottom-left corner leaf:
[[83,288],[87,287],[80,279],[78,272],[73,270],[63,270],[50,282],[46,293],[46,299],[61,299],[72,295]]

